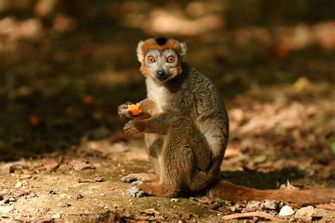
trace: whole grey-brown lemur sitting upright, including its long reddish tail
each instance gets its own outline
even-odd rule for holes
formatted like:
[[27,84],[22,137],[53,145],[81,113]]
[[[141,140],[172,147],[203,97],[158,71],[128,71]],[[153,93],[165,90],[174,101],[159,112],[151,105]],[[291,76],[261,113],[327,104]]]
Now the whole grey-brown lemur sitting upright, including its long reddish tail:
[[155,174],[129,174],[129,195],[176,197],[188,191],[226,200],[285,200],[328,203],[335,189],[302,191],[256,190],[221,181],[220,167],[228,143],[228,115],[216,87],[184,61],[185,42],[151,38],[140,41],[137,56],[146,77],[148,97],[139,102],[142,113],[118,108],[132,120],[124,133],[145,133],[146,150]]

